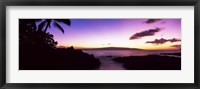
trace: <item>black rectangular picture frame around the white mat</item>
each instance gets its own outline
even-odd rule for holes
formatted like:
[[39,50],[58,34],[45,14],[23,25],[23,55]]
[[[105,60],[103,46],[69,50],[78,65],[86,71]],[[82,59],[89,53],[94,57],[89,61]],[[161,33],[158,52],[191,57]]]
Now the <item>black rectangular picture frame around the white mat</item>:
[[[6,6],[194,6],[194,83],[6,83]],[[199,0],[1,0],[0,1],[0,87],[2,89],[198,89],[199,78]]]

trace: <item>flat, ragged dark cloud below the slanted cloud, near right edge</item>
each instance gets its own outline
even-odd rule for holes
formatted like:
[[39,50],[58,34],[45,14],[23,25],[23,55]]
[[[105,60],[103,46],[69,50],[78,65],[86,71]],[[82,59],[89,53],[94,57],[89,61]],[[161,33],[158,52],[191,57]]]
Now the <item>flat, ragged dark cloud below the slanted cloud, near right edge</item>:
[[177,39],[177,38],[172,38],[172,39],[164,39],[164,38],[161,38],[161,39],[155,39],[154,41],[147,41],[146,43],[151,43],[151,44],[164,44],[166,42],[179,42],[181,41],[180,39]]

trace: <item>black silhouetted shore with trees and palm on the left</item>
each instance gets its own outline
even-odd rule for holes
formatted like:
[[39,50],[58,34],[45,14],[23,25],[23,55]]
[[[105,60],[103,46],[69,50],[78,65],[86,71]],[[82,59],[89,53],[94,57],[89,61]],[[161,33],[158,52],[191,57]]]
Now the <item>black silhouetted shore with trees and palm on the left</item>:
[[[41,23],[36,26],[36,22]],[[93,55],[70,48],[56,48],[53,35],[47,32],[53,24],[61,32],[59,23],[70,26],[69,19],[19,20],[20,70],[87,70],[98,69],[100,61]]]

